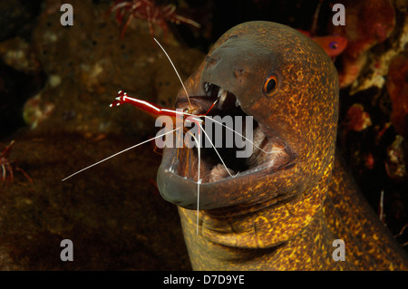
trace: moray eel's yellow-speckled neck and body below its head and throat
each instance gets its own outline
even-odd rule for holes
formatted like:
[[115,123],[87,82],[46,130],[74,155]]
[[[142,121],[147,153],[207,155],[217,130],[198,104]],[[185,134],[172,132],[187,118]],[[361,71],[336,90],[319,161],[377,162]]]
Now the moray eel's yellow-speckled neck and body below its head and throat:
[[[196,212],[179,207],[184,237],[194,270],[407,270],[406,256],[335,161],[324,207],[305,229],[279,246],[248,249],[221,246],[196,234]],[[205,212],[200,211],[200,214]],[[263,212],[258,218],[265,218]],[[205,217],[203,217],[205,218]],[[228,218],[225,223],[237,220]],[[248,221],[246,221],[248,222]],[[279,234],[287,228],[277,226]],[[273,228],[271,228],[273,229]],[[345,241],[345,262],[335,261],[335,239]]]

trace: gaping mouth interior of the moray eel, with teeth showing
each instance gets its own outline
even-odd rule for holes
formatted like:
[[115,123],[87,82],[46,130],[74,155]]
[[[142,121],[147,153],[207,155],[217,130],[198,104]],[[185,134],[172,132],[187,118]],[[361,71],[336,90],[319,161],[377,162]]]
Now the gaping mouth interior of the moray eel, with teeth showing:
[[[293,163],[294,153],[286,142],[273,131],[267,130],[262,123],[248,118],[232,92],[210,82],[203,82],[203,86],[204,96],[189,97],[195,108],[194,114],[208,111],[209,118],[202,118],[205,123],[201,124],[204,129],[201,148],[199,151],[197,148],[173,151],[170,172],[197,182],[200,168],[201,183],[215,183],[228,178],[246,178],[260,171],[272,173]],[[214,101],[217,103],[209,111]],[[189,110],[189,101],[179,98],[176,108]],[[225,120],[224,126],[215,120]],[[212,128],[209,129],[211,125]],[[242,157],[238,158],[239,154]]]

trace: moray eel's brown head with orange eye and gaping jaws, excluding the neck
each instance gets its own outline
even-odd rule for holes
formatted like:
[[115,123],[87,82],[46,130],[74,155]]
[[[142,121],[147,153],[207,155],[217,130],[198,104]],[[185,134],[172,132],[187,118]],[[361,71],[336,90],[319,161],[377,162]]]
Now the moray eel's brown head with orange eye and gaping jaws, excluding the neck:
[[[237,153],[244,148],[236,144],[219,148],[219,155],[206,146],[200,158],[197,149],[164,149],[158,186],[170,202],[242,215],[315,188],[331,166],[337,74],[325,52],[296,30],[267,22],[232,28],[214,44],[186,87],[190,101],[181,90],[176,108],[192,107],[202,114],[217,101],[210,118],[242,120],[240,127],[233,126],[241,135],[224,129],[222,138],[252,141],[245,147],[250,153],[241,158]],[[204,120],[204,129],[209,121]]]

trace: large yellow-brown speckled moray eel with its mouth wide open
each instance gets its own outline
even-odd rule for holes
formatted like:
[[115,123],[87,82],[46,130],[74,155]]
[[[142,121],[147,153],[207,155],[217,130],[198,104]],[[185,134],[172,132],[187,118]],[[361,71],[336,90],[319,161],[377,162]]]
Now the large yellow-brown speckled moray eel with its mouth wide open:
[[[247,159],[234,149],[166,148],[158,187],[179,207],[194,270],[406,270],[407,258],[335,156],[338,79],[317,43],[282,24],[223,34],[186,81],[190,106],[254,118]],[[219,93],[222,92],[222,93]],[[189,110],[180,91],[176,107]],[[232,151],[232,153],[230,152]],[[231,157],[232,156],[232,157]],[[335,240],[345,261],[335,260]]]

